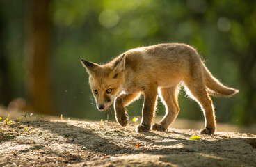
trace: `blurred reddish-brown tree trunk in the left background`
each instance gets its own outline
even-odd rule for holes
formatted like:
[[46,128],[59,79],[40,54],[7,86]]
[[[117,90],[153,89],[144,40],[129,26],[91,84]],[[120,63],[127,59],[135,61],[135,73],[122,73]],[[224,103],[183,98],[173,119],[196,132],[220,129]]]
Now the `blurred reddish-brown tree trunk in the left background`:
[[49,79],[49,0],[27,1],[26,65],[27,90],[33,111],[54,114]]

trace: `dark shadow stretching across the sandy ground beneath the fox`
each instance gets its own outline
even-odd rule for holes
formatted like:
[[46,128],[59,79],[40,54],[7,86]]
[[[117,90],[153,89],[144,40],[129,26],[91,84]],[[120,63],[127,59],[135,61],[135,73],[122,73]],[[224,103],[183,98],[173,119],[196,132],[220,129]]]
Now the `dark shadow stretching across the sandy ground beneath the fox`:
[[[25,122],[24,122],[25,123]],[[94,152],[102,152],[109,155],[114,154],[183,154],[189,152],[190,154],[197,154],[204,149],[211,150],[213,154],[216,154],[218,150],[220,150],[220,144],[230,144],[237,143],[237,141],[241,141],[243,143],[248,143],[253,148],[256,148],[256,138],[225,138],[225,139],[217,139],[212,141],[207,140],[189,140],[188,134],[183,134],[179,132],[165,132],[166,134],[170,134],[170,136],[161,136],[160,134],[154,132],[143,132],[143,135],[133,135],[133,138],[136,138],[137,141],[141,141],[141,143],[149,143],[152,147],[143,148],[141,147],[131,147],[131,145],[123,145],[118,144],[122,143],[122,139],[125,141],[125,129],[120,129],[118,131],[114,131],[115,135],[106,135],[104,136],[97,134],[97,130],[89,129],[84,127],[77,127],[74,125],[68,124],[68,122],[26,122],[31,127],[40,127],[54,134],[58,134],[59,136],[66,136],[71,138],[70,142],[76,145],[81,145],[81,149],[83,146],[86,146],[87,150],[91,150]],[[76,133],[74,133],[76,132]],[[179,136],[184,136],[182,138],[173,137],[179,134]],[[114,136],[118,136],[115,138]],[[154,141],[152,138],[148,138],[148,136],[152,136],[152,138],[162,138],[162,141]],[[117,141],[118,140],[118,141]],[[133,140],[132,138],[130,140]],[[88,144],[90,143],[90,144]],[[192,144],[198,145],[196,148],[191,148]],[[207,148],[204,148],[207,144]],[[159,145],[163,147],[158,147]],[[170,147],[173,145],[182,145],[182,147]],[[155,146],[155,147],[154,147]],[[215,152],[215,153],[214,153]]]

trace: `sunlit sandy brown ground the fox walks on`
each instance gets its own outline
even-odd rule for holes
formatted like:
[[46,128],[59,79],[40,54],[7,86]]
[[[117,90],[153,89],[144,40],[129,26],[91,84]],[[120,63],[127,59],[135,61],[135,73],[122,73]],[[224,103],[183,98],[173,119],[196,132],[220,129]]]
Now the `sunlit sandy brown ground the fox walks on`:
[[[135,132],[136,123],[0,122],[0,166],[256,166],[256,135]],[[191,136],[200,139],[189,139]]]

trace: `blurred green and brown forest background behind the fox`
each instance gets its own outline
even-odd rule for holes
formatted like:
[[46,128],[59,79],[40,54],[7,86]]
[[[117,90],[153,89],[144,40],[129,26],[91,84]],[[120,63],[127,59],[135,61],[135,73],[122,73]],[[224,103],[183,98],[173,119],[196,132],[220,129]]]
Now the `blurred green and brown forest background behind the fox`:
[[[256,1],[0,0],[0,103],[8,109],[90,120],[100,112],[79,59],[106,63],[134,47],[183,42],[212,74],[240,90],[214,98],[218,122],[256,121]],[[179,94],[178,118],[203,120]],[[127,107],[141,116],[143,97]],[[165,113],[159,103],[157,116]]]

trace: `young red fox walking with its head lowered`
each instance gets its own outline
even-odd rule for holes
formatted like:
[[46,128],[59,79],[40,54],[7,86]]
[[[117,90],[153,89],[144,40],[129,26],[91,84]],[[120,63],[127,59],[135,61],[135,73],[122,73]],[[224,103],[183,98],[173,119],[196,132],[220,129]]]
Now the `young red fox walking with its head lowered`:
[[223,86],[205,67],[198,52],[180,43],[130,49],[104,65],[84,59],[81,63],[89,74],[97,108],[104,111],[114,101],[115,118],[120,125],[126,126],[128,122],[125,106],[144,95],[142,120],[136,132],[150,130],[157,95],[166,106],[166,115],[159,123],[152,125],[152,129],[168,129],[179,113],[177,95],[183,85],[204,112],[205,129],[201,130],[201,134],[214,134],[216,120],[209,95],[231,97],[239,92]]

